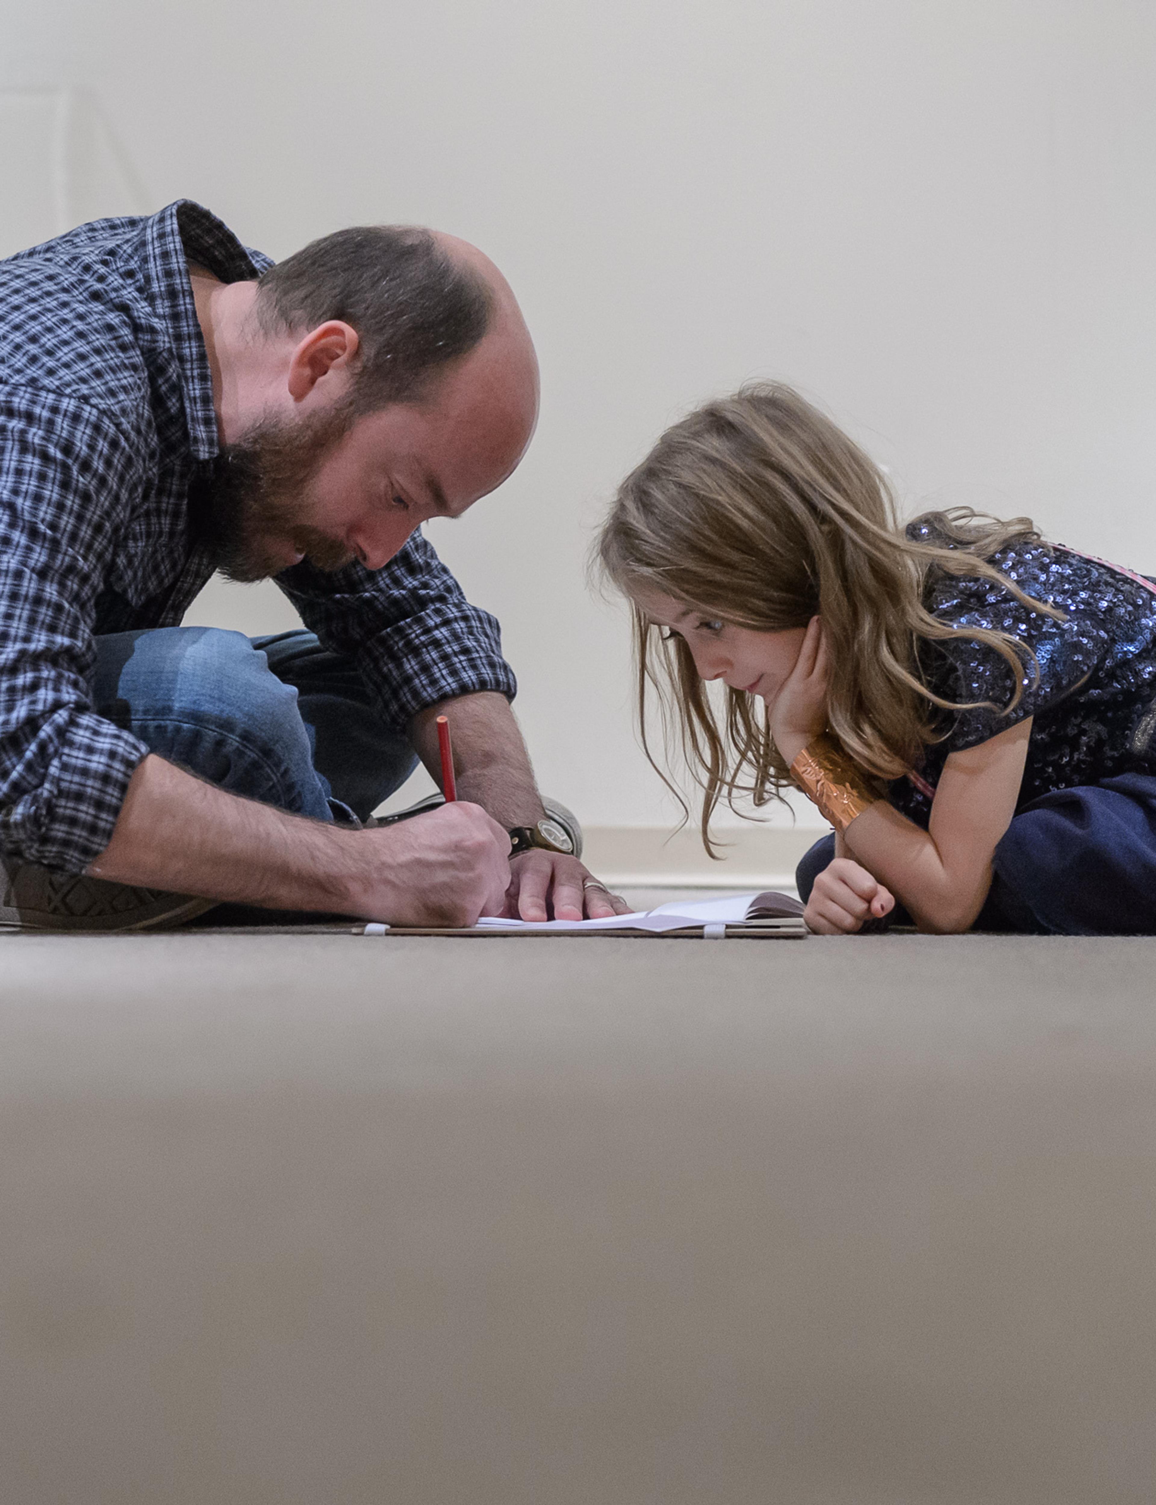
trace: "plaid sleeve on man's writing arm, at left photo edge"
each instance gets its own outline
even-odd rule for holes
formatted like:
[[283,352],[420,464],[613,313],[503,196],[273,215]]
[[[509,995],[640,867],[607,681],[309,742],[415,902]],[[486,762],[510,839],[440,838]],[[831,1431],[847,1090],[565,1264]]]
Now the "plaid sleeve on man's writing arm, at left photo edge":
[[120,429],[84,402],[0,394],[0,849],[80,873],[148,752],[98,716],[96,594],[140,492]]

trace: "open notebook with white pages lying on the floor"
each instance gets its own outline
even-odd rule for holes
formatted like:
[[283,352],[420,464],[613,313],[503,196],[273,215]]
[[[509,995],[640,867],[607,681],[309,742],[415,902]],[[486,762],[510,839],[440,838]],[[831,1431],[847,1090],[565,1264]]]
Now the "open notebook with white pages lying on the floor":
[[458,935],[458,936],[518,936],[518,935],[644,935],[644,936],[805,936],[802,905],[789,894],[736,894],[729,898],[706,898],[689,903],[676,898],[658,909],[641,909],[608,920],[494,920],[483,917],[470,930],[417,930],[402,926],[366,926],[364,935]]

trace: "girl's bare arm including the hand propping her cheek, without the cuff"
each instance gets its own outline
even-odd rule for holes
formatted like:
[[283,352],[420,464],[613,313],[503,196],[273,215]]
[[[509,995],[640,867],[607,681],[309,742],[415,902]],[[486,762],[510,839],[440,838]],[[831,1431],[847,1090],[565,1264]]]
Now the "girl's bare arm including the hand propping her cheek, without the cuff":
[[[826,653],[817,619],[769,715],[771,733],[789,763],[826,725]],[[1031,718],[965,752],[953,752],[944,765],[927,831],[879,801],[843,832],[840,853],[846,849],[887,885],[920,930],[968,930],[983,909],[992,886],[992,855],[1016,811],[1030,736]]]

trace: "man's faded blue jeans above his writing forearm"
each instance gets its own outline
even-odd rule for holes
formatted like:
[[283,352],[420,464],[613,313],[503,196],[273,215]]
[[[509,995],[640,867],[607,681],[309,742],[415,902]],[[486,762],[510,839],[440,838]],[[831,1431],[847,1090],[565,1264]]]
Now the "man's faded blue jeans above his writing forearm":
[[157,628],[96,638],[93,704],[170,763],[315,820],[364,820],[417,765],[351,659],[312,632]]

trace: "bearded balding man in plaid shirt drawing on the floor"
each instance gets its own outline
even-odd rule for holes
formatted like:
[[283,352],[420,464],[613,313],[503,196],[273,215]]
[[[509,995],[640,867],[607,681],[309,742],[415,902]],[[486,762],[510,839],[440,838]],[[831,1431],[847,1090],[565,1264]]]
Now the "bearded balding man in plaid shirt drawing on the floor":
[[[537,417],[480,251],[355,229],[274,266],[181,202],[0,263],[0,352],[9,921],[620,908],[539,831],[497,623],[418,531]],[[214,569],[274,576],[310,631],[179,628]],[[414,752],[437,771],[440,713],[461,802],[366,828]]]

